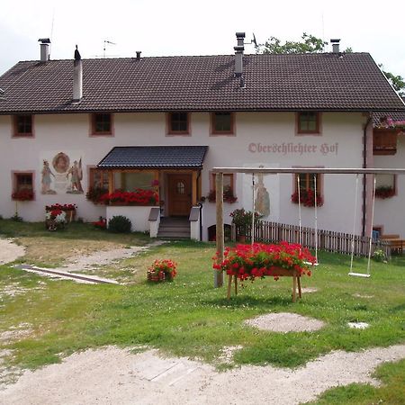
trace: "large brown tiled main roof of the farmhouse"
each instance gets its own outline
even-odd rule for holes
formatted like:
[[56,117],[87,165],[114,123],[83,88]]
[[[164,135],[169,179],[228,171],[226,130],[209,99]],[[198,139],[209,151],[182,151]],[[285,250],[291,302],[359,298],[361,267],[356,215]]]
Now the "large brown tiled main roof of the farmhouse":
[[73,60],[20,62],[0,77],[0,113],[88,111],[400,111],[405,106],[368,53],[83,60],[72,103]]

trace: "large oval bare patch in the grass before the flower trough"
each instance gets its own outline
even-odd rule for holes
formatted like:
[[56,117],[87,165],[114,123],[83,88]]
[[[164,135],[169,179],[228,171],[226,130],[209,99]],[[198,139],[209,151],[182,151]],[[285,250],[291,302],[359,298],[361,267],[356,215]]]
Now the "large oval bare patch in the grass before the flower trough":
[[325,326],[320,320],[302,317],[296,313],[268,313],[252,320],[246,320],[247,325],[272,332],[311,332]]

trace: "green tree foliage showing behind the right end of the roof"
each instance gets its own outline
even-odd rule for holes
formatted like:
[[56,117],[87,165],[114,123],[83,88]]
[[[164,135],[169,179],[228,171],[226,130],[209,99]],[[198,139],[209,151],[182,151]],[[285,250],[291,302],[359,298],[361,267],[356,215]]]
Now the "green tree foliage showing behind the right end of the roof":
[[[321,53],[325,50],[325,45],[328,42],[315,37],[314,35],[307,34],[304,32],[302,34],[301,41],[286,40],[283,44],[281,40],[275,37],[270,37],[264,44],[258,44],[256,47],[257,53]],[[347,48],[344,50],[346,53],[351,53],[353,50]],[[379,65],[383,70],[383,65]],[[388,81],[391,83],[392,87],[400,94],[402,97],[405,96],[405,80],[402,76],[395,76],[391,72],[383,70],[383,74],[387,77]]]

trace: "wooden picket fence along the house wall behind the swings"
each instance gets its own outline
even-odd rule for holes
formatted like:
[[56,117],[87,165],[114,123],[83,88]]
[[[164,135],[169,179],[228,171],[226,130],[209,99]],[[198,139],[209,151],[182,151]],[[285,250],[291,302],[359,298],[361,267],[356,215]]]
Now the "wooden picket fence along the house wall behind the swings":
[[[234,235],[235,232],[232,232]],[[303,247],[315,248],[315,241],[318,238],[318,248],[328,252],[343,253],[350,255],[352,252],[353,235],[343,232],[318,229],[315,236],[315,229],[296,225],[287,225],[278,222],[267,222],[258,220],[255,227],[255,240],[257,242],[275,243],[285,240],[289,243],[301,243]],[[247,230],[247,239],[251,240],[251,229]],[[370,238],[355,235],[354,254],[355,256],[368,256]],[[391,257],[390,243],[383,239],[372,240],[372,254],[375,249],[382,249],[386,257]]]

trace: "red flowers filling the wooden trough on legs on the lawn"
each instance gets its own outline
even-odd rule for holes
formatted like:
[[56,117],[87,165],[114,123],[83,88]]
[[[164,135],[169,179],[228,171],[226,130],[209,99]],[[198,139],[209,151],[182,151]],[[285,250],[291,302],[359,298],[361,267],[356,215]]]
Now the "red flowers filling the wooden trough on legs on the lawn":
[[[218,261],[218,255],[212,257]],[[266,275],[277,279],[279,269],[295,270],[298,275],[311,275],[310,264],[315,263],[311,252],[298,244],[280,242],[279,245],[265,245],[255,243],[250,245],[237,245],[225,249],[225,259],[222,263],[212,266],[227,275],[236,275],[240,280],[254,280]]]

